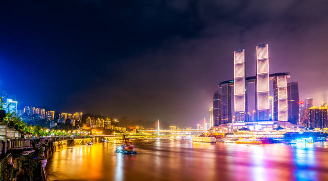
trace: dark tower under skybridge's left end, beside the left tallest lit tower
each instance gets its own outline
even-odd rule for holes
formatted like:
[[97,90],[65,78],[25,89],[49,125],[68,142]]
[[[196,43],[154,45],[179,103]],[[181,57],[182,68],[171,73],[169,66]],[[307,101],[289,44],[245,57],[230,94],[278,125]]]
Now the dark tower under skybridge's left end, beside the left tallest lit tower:
[[221,122],[231,123],[231,87],[229,83],[221,84]]

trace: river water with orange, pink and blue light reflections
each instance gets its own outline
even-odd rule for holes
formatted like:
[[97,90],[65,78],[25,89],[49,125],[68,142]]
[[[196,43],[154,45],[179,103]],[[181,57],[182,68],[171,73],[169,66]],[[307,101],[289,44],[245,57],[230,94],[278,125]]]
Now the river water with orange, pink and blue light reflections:
[[120,142],[58,150],[48,160],[48,177],[51,181],[328,180],[328,142],[307,147],[193,143],[168,138],[132,142],[138,152],[134,155],[116,153]]

